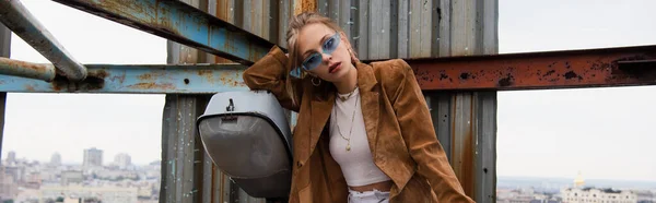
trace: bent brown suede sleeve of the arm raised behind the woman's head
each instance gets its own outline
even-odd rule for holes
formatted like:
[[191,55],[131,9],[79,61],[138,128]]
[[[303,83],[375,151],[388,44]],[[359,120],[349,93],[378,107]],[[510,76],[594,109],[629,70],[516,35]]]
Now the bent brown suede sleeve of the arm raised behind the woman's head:
[[288,65],[289,60],[282,49],[273,46],[265,57],[244,71],[244,83],[251,91],[271,92],[282,107],[298,112],[302,98],[300,80],[292,81],[292,86],[298,95],[298,100],[294,104],[292,96],[286,91]]

